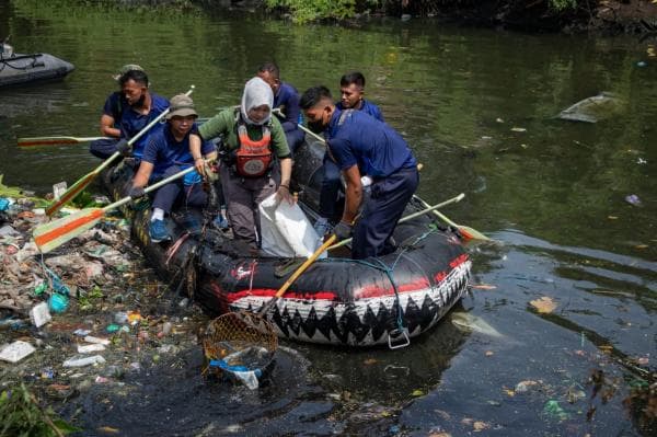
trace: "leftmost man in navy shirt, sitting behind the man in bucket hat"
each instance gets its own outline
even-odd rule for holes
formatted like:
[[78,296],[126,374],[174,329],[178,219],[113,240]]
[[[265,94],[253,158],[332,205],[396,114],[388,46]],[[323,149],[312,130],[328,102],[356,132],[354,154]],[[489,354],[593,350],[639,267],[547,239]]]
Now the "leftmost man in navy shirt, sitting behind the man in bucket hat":
[[151,127],[132,145],[131,150],[127,141],[166,111],[169,101],[149,91],[148,76],[136,64],[124,66],[114,79],[118,82],[120,91],[110,94],[101,116],[101,134],[110,139],[92,141],[89,150],[101,159],[107,159],[116,151],[139,159],[148,143],[149,135],[157,133],[161,126]]

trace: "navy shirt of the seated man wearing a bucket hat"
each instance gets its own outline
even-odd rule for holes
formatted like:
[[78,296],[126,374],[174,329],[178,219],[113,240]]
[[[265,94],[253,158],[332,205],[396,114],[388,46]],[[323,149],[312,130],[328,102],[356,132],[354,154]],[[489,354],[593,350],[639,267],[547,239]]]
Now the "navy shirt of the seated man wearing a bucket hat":
[[[176,141],[171,128],[165,125],[164,128],[150,136],[141,160],[154,165],[153,174],[162,174],[172,165],[193,165],[194,158],[189,151],[189,134],[197,131],[197,126],[194,124],[185,138],[182,141]],[[200,152],[204,156],[214,151],[215,146],[210,141],[201,140]]]

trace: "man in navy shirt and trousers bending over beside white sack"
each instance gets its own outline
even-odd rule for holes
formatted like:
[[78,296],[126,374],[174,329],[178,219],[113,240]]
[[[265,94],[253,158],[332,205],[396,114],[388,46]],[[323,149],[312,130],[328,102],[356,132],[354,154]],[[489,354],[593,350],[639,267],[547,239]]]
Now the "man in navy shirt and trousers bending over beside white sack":
[[[326,151],[347,183],[345,209],[334,228],[335,235],[345,240],[353,231],[355,260],[392,252],[390,239],[419,183],[408,145],[396,130],[362,111],[337,108],[326,87],[309,89],[299,104],[311,129],[326,130]],[[362,195],[364,182],[371,184],[367,197]]]

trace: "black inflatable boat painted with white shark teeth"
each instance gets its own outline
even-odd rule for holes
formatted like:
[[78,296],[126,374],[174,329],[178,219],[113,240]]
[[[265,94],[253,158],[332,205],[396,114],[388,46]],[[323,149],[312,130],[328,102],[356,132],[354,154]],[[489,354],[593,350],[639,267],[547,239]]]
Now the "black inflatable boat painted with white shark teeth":
[[[324,153],[307,141],[295,154],[292,183],[299,204],[313,220]],[[118,165],[103,174],[115,198],[130,184],[132,170]],[[168,220],[170,243],[149,240],[150,208],[131,216],[131,231],[147,260],[175,288],[210,314],[256,312],[285,284],[302,260],[253,256],[230,232],[206,225],[209,215],[174,211]],[[423,210],[412,202],[404,216]],[[471,261],[458,234],[430,215],[400,223],[396,250],[388,255],[351,260],[331,251],[312,264],[264,314],[280,337],[344,346],[403,346],[431,329],[468,289]]]

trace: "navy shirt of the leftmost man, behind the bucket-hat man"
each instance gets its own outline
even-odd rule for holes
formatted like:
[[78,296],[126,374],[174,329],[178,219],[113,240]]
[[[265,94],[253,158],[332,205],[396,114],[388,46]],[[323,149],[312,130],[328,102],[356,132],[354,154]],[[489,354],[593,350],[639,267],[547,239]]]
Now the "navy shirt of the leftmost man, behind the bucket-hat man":
[[[114,125],[120,130],[120,137],[130,140],[150,122],[155,119],[169,107],[169,101],[155,93],[151,94],[151,110],[147,115],[139,114],[130,107],[120,92],[110,94],[103,106],[103,114],[114,118]],[[137,142],[132,145],[132,156],[141,158],[149,137],[162,130],[162,125],[155,124]]]

